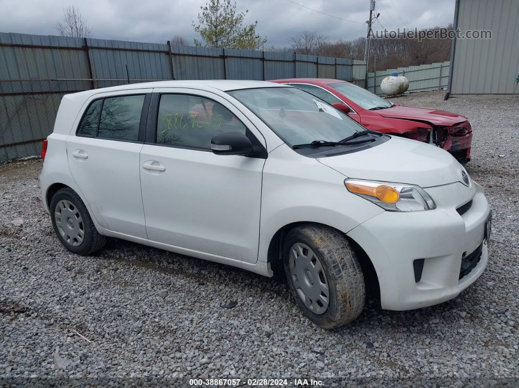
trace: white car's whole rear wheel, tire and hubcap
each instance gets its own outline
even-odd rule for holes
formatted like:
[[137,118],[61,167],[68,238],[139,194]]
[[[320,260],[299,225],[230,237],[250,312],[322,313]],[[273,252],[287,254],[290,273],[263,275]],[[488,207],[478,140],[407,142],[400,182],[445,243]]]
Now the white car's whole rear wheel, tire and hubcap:
[[74,190],[58,190],[49,210],[54,232],[66,249],[89,255],[103,248],[106,239],[98,233],[85,204]]

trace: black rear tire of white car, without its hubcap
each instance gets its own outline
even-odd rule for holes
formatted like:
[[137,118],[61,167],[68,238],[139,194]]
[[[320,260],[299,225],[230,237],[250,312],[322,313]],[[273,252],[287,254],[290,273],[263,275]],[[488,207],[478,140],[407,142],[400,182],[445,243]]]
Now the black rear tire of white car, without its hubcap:
[[[72,203],[81,214],[81,219],[83,220],[82,226],[84,230],[84,238],[83,241],[77,246],[73,246],[71,243],[67,242],[61,236],[61,233],[59,232],[58,227],[56,225],[56,206],[62,200],[66,200]],[[77,193],[74,190],[70,188],[58,190],[50,201],[49,211],[50,218],[52,221],[52,227],[54,228],[54,233],[56,233],[56,236],[58,237],[60,242],[69,251],[81,256],[87,256],[96,251],[99,251],[101,248],[104,247],[106,243],[106,238],[98,233],[94,223],[92,222],[92,219],[90,218],[90,214],[88,213],[88,210],[85,204],[83,203],[83,200],[81,200],[79,195],[77,195]]]

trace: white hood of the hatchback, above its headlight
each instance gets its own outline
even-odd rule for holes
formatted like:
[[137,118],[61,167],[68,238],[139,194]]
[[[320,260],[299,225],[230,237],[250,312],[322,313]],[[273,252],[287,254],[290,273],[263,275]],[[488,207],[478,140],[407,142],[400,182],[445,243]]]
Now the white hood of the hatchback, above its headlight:
[[462,182],[463,167],[447,151],[401,137],[392,136],[376,147],[318,161],[348,178],[409,183],[422,188]]

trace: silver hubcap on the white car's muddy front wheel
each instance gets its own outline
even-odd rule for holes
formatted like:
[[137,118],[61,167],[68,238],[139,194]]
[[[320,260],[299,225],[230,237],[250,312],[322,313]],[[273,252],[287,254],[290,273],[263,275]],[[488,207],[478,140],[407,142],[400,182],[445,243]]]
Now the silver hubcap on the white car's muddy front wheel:
[[328,281],[319,258],[301,242],[290,249],[289,269],[292,284],[306,307],[323,314],[330,303]]

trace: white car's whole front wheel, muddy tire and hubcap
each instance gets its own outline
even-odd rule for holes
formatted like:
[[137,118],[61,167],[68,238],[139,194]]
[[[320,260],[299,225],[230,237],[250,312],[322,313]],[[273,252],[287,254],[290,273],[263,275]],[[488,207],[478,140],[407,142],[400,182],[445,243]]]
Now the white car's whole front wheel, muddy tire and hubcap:
[[284,240],[283,264],[297,305],[316,325],[342,326],[362,312],[362,269],[346,236],[336,229],[296,226]]

